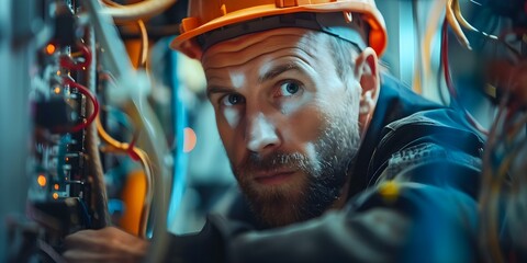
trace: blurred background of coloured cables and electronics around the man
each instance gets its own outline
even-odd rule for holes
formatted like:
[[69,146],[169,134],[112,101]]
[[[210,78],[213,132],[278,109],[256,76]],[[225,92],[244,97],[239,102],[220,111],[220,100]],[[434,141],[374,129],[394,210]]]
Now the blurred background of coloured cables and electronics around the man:
[[[168,47],[187,4],[0,1],[0,261],[53,262],[65,235],[108,225],[198,231],[228,203],[236,185],[202,69]],[[377,4],[388,70],[489,137],[481,235],[489,259],[513,262],[527,250],[527,2]]]

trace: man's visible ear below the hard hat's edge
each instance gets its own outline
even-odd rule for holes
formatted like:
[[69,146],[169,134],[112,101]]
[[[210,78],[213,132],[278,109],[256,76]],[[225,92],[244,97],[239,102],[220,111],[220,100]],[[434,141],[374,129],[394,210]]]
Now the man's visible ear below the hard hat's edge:
[[355,77],[361,87],[359,123],[366,132],[373,116],[381,85],[377,53],[371,47],[365,48],[357,56],[355,65]]

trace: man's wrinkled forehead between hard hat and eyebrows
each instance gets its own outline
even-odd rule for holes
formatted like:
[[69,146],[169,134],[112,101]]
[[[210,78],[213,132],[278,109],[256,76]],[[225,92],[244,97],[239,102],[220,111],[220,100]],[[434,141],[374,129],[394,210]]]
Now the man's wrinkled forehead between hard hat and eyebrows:
[[243,66],[257,58],[296,56],[300,59],[327,58],[326,34],[304,28],[278,28],[239,36],[210,47],[202,56],[208,69]]

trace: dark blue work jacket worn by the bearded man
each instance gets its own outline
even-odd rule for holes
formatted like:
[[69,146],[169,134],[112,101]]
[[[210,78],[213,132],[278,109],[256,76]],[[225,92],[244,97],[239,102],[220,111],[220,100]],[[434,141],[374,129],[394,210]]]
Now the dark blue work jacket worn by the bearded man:
[[352,169],[345,208],[276,229],[243,198],[197,235],[170,236],[167,262],[476,262],[483,140],[451,108],[390,76]]

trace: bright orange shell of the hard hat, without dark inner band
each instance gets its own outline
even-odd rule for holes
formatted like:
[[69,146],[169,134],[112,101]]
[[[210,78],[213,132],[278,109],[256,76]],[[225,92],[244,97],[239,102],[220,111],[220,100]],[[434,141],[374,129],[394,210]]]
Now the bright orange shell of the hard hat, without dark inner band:
[[[182,20],[181,34],[172,41],[170,47],[189,57],[199,58],[203,52],[203,45],[197,38],[216,30],[221,32],[217,35],[222,35],[223,31],[232,25],[242,24],[248,27],[247,23],[253,21],[258,23],[264,18],[335,12],[344,13],[343,21],[344,18],[351,18],[351,13],[360,14],[361,20],[369,25],[368,45],[379,56],[382,55],[386,48],[388,34],[384,19],[377,9],[374,0],[190,0],[189,18]],[[251,26],[257,27],[257,31],[268,30],[261,25]]]

